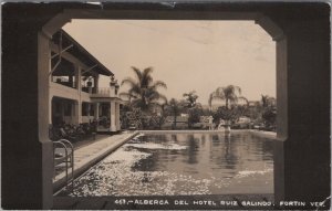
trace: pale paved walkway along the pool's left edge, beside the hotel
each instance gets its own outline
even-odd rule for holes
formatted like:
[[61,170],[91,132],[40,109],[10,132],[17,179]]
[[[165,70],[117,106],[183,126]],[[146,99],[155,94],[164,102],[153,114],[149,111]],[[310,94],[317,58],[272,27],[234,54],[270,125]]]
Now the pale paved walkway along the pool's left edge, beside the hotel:
[[[125,141],[136,136],[138,133],[123,133],[105,137],[90,145],[82,146],[74,150],[74,177],[76,178],[90,167],[98,162],[108,154],[117,149]],[[71,169],[69,170],[71,175]],[[53,189],[58,190],[65,184],[65,171],[59,173],[53,179]]]

